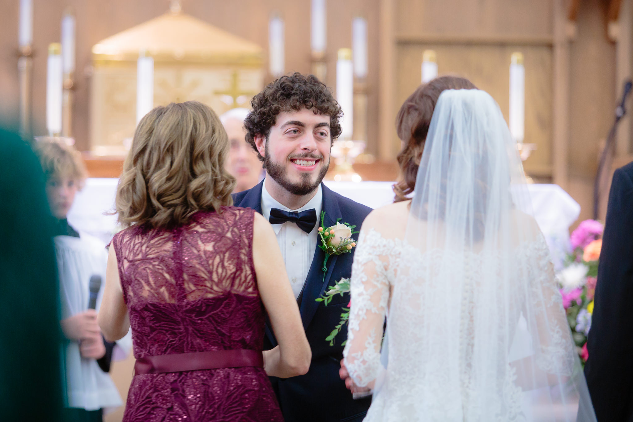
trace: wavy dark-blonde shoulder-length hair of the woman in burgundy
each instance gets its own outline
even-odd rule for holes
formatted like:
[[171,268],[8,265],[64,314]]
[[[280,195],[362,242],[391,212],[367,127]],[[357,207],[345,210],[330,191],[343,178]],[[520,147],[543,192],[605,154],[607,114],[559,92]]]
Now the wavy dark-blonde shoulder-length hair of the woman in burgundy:
[[139,122],[123,163],[119,223],[173,228],[197,211],[221,212],[233,204],[228,154],[227,133],[208,106],[187,101],[154,108]]

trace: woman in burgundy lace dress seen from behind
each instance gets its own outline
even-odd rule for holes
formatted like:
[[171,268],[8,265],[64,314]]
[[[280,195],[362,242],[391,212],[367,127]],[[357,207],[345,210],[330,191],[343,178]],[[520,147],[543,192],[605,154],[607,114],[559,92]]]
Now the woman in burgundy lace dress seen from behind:
[[[189,101],[142,118],[123,165],[99,325],[132,327],[135,376],[123,421],[282,421],[266,375],[310,365],[275,233],[230,206],[227,135]],[[265,312],[279,346],[262,352]]]

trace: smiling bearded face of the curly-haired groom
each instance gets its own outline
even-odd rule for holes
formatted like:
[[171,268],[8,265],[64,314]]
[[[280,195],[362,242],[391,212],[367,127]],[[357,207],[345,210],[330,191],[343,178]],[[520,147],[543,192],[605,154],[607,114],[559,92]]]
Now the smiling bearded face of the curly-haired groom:
[[277,115],[268,137],[255,137],[268,176],[291,194],[307,195],[318,187],[330,165],[330,116],[311,109]]

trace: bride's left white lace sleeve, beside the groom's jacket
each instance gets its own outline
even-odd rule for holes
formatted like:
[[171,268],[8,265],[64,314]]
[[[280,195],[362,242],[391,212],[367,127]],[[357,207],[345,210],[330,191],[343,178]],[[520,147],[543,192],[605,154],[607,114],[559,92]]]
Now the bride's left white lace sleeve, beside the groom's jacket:
[[[391,244],[391,245],[390,245]],[[380,369],[380,344],[389,303],[389,254],[394,242],[380,233],[361,230],[354,253],[350,283],[348,342],[343,351],[345,366],[354,383],[365,387]]]

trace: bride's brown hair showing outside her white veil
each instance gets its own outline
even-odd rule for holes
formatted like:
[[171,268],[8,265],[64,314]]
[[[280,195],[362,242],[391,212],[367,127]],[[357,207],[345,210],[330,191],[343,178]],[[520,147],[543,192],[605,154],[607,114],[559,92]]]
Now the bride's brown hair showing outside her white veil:
[[394,202],[410,199],[415,189],[420,158],[437,99],[445,89],[477,89],[470,80],[457,76],[441,76],[422,84],[403,102],[396,117],[396,131],[403,141],[398,154],[400,175],[393,187]]

